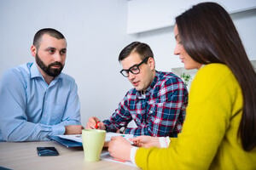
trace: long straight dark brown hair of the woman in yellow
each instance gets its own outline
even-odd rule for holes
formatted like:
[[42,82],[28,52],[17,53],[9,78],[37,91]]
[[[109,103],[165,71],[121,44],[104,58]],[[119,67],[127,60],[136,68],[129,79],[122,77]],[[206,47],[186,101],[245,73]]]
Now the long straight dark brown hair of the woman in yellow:
[[256,73],[230,15],[218,3],[199,3],[176,18],[179,37],[192,59],[223,63],[235,75],[243,96],[237,135],[243,150],[256,146]]

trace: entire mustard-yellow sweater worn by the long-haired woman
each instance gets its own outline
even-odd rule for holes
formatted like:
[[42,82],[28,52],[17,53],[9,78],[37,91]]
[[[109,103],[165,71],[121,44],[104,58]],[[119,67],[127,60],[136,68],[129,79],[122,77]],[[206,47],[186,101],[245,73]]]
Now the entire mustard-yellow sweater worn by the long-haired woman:
[[[245,73],[246,74],[246,73]],[[189,91],[183,131],[167,149],[140,148],[143,169],[256,169],[256,148],[241,148],[242,94],[226,65],[210,64],[196,74]]]

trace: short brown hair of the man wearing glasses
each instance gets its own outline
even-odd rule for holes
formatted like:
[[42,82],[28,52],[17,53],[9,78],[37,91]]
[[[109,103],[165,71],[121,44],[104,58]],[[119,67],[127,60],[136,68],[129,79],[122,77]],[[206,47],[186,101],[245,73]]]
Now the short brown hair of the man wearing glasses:
[[143,42],[131,42],[119,54],[119,61],[128,57],[131,53],[136,52],[140,55],[141,59],[145,59],[146,57],[154,58],[154,54],[148,44]]

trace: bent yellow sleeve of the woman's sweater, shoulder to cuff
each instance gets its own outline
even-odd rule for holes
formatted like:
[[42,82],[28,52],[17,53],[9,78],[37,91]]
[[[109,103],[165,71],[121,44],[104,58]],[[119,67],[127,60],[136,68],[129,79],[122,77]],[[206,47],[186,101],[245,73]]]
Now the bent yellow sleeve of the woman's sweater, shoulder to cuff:
[[208,169],[229,127],[233,79],[224,65],[201,68],[191,84],[182,133],[172,139],[167,149],[138,149],[137,166],[143,169]]

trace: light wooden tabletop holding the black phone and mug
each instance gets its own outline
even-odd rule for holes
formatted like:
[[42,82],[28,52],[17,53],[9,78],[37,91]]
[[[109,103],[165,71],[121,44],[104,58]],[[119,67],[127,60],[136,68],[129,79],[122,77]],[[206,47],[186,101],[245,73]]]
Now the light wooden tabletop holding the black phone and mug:
[[[54,146],[60,156],[38,156],[38,146]],[[66,148],[53,141],[49,142],[0,142],[0,167],[15,170],[22,169],[101,169],[101,170],[136,170],[118,162],[111,161],[84,161],[84,150],[80,148]]]

